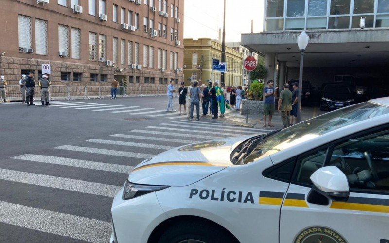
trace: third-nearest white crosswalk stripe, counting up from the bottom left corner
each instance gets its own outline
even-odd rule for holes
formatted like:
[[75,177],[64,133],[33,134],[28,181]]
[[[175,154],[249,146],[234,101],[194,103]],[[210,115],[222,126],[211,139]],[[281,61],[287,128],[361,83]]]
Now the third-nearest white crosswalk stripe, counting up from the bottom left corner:
[[25,154],[21,156],[15,156],[12,158],[26,160],[26,161],[34,161],[34,162],[56,164],[56,165],[66,165],[66,166],[73,166],[73,167],[86,168],[92,170],[110,171],[110,172],[118,172],[118,173],[126,173],[126,174],[129,174],[131,170],[134,168],[133,166],[127,166],[127,165],[115,165],[115,164],[107,164],[107,163],[94,162],[94,161],[81,160],[81,159],[33,155],[33,154]]

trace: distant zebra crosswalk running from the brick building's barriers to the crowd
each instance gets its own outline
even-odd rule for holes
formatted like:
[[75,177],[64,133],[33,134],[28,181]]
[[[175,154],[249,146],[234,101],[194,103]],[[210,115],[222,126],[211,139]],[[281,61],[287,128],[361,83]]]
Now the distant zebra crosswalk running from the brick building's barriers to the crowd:
[[[20,104],[20,103],[18,103]],[[25,105],[25,104],[23,104]],[[182,119],[186,118],[187,114],[179,114],[176,112],[167,112],[166,109],[157,109],[154,107],[142,107],[138,105],[124,105],[124,104],[112,104],[110,103],[95,103],[95,102],[83,102],[83,101],[52,101],[51,107],[64,108],[64,109],[76,109],[80,111],[93,111],[93,112],[107,112],[109,114],[124,114],[130,116],[145,116],[150,118],[165,118],[165,119]],[[226,114],[230,113],[230,110],[226,110]],[[194,112],[195,115],[196,112]],[[200,106],[200,114],[202,113],[202,107]]]

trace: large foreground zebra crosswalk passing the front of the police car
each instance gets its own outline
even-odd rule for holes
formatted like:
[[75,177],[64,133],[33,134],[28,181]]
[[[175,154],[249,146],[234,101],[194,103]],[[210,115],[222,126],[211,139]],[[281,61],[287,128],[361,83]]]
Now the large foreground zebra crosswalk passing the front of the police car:
[[[29,191],[44,196],[35,198],[25,191],[20,194],[24,200],[0,200],[0,223],[67,237],[68,242],[107,242],[112,198],[142,160],[185,144],[267,132],[205,121],[164,121],[105,138],[63,144],[42,154],[11,157],[14,166],[0,168],[1,182],[15,188],[28,186]],[[29,203],[36,200],[47,203]]]

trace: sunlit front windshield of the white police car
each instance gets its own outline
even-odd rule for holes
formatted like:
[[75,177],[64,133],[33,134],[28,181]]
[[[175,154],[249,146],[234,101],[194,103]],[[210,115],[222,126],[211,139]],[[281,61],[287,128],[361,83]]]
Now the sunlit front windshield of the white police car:
[[364,102],[303,121],[264,139],[244,158],[243,163],[253,162],[341,127],[387,113],[387,106]]

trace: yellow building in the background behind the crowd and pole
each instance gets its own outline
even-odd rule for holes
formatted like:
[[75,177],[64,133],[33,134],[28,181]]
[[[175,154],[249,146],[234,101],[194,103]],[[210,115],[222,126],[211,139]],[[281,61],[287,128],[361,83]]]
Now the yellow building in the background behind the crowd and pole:
[[[221,62],[222,44],[210,38],[198,40],[184,39],[184,81],[189,85],[190,80],[218,81],[221,73],[213,71],[212,60]],[[226,47],[227,72],[224,75],[226,86],[242,85],[242,59],[243,54],[232,48]]]

